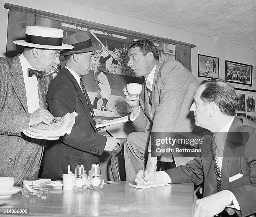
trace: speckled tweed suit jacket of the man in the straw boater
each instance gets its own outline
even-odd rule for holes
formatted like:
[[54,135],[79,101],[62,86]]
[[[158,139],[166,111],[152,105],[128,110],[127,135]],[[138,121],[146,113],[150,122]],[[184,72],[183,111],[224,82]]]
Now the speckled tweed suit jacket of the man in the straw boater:
[[0,176],[14,177],[15,184],[36,179],[43,156],[44,140],[21,133],[30,116],[19,55],[0,58]]

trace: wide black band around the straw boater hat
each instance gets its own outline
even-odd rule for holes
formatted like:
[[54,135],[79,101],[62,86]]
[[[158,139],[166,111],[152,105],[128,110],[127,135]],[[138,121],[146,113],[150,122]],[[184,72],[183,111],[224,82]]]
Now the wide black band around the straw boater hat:
[[61,46],[62,38],[50,38],[50,37],[42,37],[42,36],[26,34],[26,42],[32,43],[32,44],[38,44],[38,45]]

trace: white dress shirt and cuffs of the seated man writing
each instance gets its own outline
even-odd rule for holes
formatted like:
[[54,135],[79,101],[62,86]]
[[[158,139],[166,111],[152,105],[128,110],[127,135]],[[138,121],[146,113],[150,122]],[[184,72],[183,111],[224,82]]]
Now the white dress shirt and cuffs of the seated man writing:
[[[229,131],[234,118],[235,118],[235,116],[233,116],[233,118],[228,122],[228,124],[226,124],[218,133],[215,133],[215,141],[216,141],[216,145],[217,145],[216,156],[223,156],[224,145],[225,145],[225,141],[226,141],[226,137],[227,137],[227,134],[224,134],[224,133],[227,133]],[[217,161],[218,161],[220,171],[221,171],[223,157],[217,157]],[[164,179],[164,183],[172,183],[172,179],[169,177],[169,175],[166,172],[159,171],[156,173],[161,174],[161,176]],[[229,190],[223,190],[223,191],[228,192],[229,198],[232,199],[232,201],[233,201],[233,205],[228,206],[228,207],[236,208],[237,210],[240,210],[240,206],[238,204],[238,201],[237,201],[235,195],[232,192],[230,192]]]

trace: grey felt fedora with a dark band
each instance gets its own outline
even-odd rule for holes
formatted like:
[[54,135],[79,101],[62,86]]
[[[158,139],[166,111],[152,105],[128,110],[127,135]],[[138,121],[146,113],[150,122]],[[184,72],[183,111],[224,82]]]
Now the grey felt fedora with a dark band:
[[71,50],[61,52],[61,55],[67,56],[75,53],[87,53],[102,49],[100,46],[92,45],[90,35],[85,32],[76,32],[63,39],[64,43],[74,46]]

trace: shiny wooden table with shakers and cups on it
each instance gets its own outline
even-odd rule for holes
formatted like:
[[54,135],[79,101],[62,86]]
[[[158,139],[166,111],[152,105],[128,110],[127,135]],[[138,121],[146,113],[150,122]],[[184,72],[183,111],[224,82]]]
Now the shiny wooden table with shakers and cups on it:
[[[192,183],[136,189],[129,187],[128,182],[121,182],[105,184],[99,191],[51,187],[45,198],[24,197],[19,192],[0,208],[28,208],[29,216],[190,217],[193,197]],[[3,209],[0,212],[1,217],[15,216],[3,214]]]

